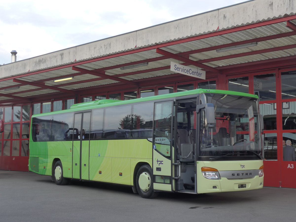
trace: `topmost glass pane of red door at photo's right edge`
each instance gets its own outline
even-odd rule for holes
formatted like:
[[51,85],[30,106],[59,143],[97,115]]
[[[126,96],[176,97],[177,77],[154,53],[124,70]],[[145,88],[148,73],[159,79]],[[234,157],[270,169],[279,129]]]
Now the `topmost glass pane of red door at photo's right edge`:
[[296,99],[296,70],[281,73],[281,98]]

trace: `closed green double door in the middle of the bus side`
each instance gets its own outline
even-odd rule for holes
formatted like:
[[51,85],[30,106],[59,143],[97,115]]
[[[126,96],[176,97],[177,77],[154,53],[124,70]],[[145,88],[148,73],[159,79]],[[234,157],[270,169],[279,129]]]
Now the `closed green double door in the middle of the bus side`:
[[91,112],[75,113],[72,174],[76,179],[89,180],[90,120]]

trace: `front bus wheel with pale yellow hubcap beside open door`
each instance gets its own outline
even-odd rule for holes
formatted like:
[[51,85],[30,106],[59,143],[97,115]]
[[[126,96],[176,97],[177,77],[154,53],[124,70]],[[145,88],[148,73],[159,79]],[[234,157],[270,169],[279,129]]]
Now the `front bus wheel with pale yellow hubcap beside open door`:
[[139,168],[136,176],[136,188],[143,198],[154,198],[158,192],[153,190],[152,169],[149,165],[143,165]]

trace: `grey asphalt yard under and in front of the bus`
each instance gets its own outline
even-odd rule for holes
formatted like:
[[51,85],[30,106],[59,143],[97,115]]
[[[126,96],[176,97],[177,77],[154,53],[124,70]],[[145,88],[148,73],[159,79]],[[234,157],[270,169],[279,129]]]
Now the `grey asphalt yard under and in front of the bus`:
[[161,192],[143,199],[131,187],[0,170],[0,221],[295,221],[296,189],[214,194]]

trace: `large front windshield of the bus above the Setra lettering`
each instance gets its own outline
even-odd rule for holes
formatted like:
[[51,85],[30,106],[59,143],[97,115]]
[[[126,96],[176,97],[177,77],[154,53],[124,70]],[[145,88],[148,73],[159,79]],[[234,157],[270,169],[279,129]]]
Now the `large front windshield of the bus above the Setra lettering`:
[[229,94],[201,94],[200,104],[213,103],[215,124],[207,125],[200,112],[199,157],[203,160],[252,160],[263,158],[258,100]]

